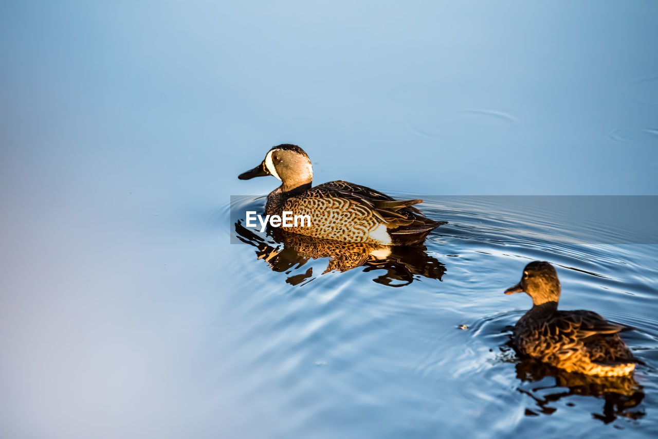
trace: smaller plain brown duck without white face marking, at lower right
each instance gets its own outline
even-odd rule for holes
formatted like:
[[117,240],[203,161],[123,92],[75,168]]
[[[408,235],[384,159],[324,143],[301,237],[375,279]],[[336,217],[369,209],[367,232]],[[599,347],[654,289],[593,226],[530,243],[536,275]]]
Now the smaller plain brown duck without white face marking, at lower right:
[[512,334],[522,355],[567,372],[597,376],[628,375],[641,363],[619,336],[635,328],[607,321],[594,311],[558,311],[561,286],[550,263],[529,263],[520,282],[505,290],[505,294],[521,292],[532,298],[532,308],[517,321]]

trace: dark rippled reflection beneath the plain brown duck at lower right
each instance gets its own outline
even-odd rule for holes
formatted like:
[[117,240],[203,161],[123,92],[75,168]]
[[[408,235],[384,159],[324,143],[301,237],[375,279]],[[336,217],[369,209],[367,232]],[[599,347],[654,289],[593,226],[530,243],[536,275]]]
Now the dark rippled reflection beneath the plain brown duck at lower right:
[[[510,344],[507,345],[507,349],[512,349]],[[536,409],[526,409],[526,416],[551,415],[557,410],[551,407],[551,404],[570,396],[592,396],[603,400],[602,412],[592,413],[592,417],[606,424],[615,421],[618,417],[640,419],[645,415],[642,410],[632,410],[644,399],[642,386],[632,374],[596,376],[571,373],[530,357],[520,359],[516,370],[517,378],[522,382],[539,382],[544,378],[555,379],[555,384],[552,386],[534,387],[530,390],[518,389],[537,404]],[[568,402],[566,405],[573,407],[574,403]]]

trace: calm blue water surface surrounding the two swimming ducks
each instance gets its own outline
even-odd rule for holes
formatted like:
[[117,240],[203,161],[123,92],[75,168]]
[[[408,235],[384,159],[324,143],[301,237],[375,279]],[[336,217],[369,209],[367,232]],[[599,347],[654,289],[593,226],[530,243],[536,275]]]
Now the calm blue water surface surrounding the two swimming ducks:
[[[426,195],[657,194],[657,16],[2,2],[0,436],[655,436],[656,245]],[[317,183],[426,197],[449,224],[325,274],[270,238],[230,244],[231,195],[261,209],[275,185],[237,176],[278,143]],[[531,259],[556,265],[564,309],[638,327],[630,394],[509,350],[529,300],[502,291]]]

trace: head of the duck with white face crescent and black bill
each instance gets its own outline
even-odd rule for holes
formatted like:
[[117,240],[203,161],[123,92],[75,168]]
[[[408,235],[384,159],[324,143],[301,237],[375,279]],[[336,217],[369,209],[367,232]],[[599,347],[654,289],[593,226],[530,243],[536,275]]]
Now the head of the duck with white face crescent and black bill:
[[271,175],[281,180],[284,192],[313,181],[313,166],[309,155],[297,145],[284,143],[272,147],[257,167],[238,176],[240,180]]

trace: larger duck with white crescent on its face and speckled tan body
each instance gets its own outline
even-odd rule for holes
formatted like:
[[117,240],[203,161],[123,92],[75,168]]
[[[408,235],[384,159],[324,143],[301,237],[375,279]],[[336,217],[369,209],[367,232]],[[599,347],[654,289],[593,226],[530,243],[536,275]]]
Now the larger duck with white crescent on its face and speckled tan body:
[[274,176],[281,185],[267,196],[266,215],[309,215],[310,224],[286,227],[312,238],[378,245],[422,244],[445,221],[424,217],[414,207],[422,199],[396,200],[382,192],[343,180],[313,187],[313,165],[297,145],[272,147],[257,167],[238,176],[249,180]]

